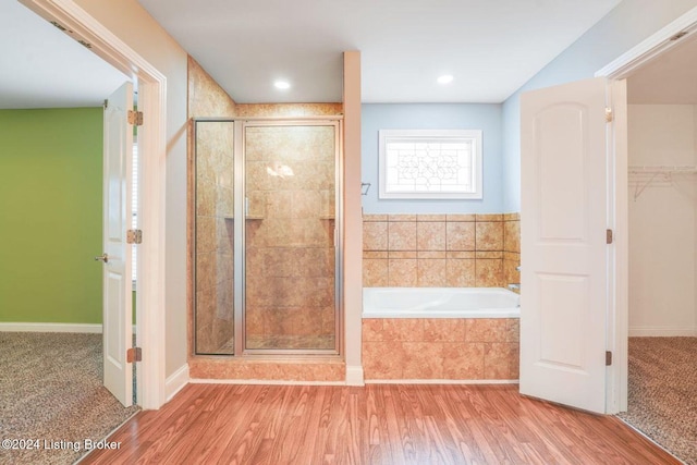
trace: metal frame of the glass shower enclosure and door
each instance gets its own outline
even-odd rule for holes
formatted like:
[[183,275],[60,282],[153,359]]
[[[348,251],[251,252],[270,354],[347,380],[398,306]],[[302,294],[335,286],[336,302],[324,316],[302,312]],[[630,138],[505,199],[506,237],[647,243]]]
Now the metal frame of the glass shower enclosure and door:
[[[343,160],[343,115],[293,117],[293,118],[194,118],[194,154],[196,154],[196,124],[206,122],[231,123],[234,125],[233,138],[233,218],[244,218],[234,221],[233,225],[233,354],[198,354],[196,348],[196,311],[194,297],[194,355],[215,355],[220,357],[240,358],[264,356],[339,356],[343,347],[343,191],[344,191],[344,160]],[[246,348],[246,127],[272,126],[333,126],[334,127],[334,346],[333,348]],[[195,155],[196,156],[196,155]],[[193,160],[195,167],[196,159]],[[196,182],[196,181],[195,181]],[[194,203],[195,204],[195,203]],[[196,221],[194,218],[194,237]],[[194,264],[196,244],[192,246]],[[194,285],[196,283],[196,267],[193,267]],[[194,293],[195,295],[195,293]]]

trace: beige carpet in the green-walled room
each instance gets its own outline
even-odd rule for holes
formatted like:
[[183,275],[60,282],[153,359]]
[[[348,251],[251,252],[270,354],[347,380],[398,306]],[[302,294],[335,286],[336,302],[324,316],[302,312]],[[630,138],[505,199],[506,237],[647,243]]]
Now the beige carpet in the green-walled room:
[[0,332],[0,439],[39,448],[3,442],[1,464],[71,464],[138,411],[101,386],[101,334]]

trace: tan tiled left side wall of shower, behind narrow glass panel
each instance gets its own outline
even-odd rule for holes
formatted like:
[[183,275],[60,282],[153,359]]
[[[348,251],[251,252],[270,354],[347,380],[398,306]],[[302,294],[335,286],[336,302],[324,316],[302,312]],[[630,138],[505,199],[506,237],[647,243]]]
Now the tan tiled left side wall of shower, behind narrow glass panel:
[[[235,102],[194,60],[188,58],[188,117],[231,118]],[[194,125],[189,125],[189,265],[195,283],[195,323],[189,325],[194,352],[232,353],[233,341],[233,130],[228,123],[198,125],[198,152],[194,159]],[[193,311],[192,311],[192,315]]]

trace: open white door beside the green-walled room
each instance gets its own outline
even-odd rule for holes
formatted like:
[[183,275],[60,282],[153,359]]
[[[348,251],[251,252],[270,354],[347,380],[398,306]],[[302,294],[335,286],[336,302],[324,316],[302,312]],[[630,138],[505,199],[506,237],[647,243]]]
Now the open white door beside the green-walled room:
[[114,91],[105,109],[103,147],[103,372],[105,387],[125,406],[133,404],[131,246],[126,244],[132,196],[133,85]]

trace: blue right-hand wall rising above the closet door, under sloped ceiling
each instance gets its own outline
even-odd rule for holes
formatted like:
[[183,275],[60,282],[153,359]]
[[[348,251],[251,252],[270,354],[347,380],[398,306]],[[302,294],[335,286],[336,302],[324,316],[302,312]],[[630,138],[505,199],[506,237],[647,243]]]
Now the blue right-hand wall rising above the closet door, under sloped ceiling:
[[624,0],[503,103],[503,210],[521,209],[521,94],[595,73],[697,7],[697,0]]

